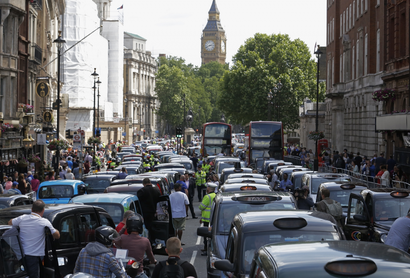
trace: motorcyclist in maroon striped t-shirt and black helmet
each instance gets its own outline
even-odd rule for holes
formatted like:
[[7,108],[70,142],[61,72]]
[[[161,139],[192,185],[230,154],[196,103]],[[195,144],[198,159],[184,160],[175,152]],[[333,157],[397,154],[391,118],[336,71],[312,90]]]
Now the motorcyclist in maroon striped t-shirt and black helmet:
[[[142,216],[139,214],[128,217],[127,222],[119,232],[121,239],[114,240],[116,246],[127,248],[128,256],[133,257],[136,262],[141,264],[141,267],[139,267],[137,271],[138,275],[135,276],[135,278],[148,278],[142,269],[142,260],[144,259],[145,253],[151,264],[157,263],[149,239],[143,237],[143,224]],[[125,230],[127,230],[128,234],[124,234]]]

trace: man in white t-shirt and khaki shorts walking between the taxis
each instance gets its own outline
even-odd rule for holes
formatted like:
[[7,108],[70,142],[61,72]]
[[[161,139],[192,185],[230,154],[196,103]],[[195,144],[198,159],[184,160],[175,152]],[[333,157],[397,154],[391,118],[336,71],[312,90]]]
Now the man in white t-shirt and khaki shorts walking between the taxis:
[[[175,192],[169,195],[169,202],[171,203],[172,210],[172,224],[175,229],[175,237],[181,240],[182,231],[185,230],[185,222],[187,221],[187,210],[188,210],[188,196],[181,192],[182,185],[174,184]],[[185,245],[181,243],[181,245]]]

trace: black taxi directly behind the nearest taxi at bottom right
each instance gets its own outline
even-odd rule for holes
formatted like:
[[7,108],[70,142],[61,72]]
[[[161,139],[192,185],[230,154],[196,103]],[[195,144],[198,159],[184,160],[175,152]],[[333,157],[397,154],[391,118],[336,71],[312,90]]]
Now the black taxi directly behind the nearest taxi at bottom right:
[[[225,260],[214,267],[221,277],[246,277],[256,251],[273,243],[346,240],[335,219],[320,211],[270,210],[241,212],[232,220]],[[305,257],[315,257],[314,253]],[[292,260],[297,265],[298,260]],[[305,277],[305,276],[295,276]]]

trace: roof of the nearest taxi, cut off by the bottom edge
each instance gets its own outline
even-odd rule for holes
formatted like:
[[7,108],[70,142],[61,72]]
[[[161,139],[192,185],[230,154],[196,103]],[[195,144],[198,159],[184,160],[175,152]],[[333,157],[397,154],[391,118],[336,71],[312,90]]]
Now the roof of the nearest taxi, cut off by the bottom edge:
[[[337,258],[348,260],[351,256],[351,259],[366,258],[376,263],[376,273],[371,277],[387,277],[392,275],[392,271],[396,277],[407,277],[410,263],[410,256],[404,251],[367,241],[294,241],[268,244],[262,248],[260,251],[268,253],[278,267],[280,277],[300,277],[301,271],[307,270],[307,278],[342,277],[327,273],[325,265]],[[271,264],[266,267],[271,267]]]

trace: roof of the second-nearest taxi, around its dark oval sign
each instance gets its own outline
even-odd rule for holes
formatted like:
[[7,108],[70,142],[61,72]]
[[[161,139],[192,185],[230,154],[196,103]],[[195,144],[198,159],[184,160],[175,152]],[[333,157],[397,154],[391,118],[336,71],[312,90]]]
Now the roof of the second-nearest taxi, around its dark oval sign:
[[282,217],[304,218],[307,226],[299,229],[302,231],[338,232],[335,218],[321,211],[275,209],[263,211],[263,214],[260,211],[246,211],[237,214],[236,217],[239,217],[243,223],[243,232],[281,230],[273,225],[273,221]]

